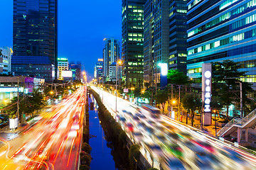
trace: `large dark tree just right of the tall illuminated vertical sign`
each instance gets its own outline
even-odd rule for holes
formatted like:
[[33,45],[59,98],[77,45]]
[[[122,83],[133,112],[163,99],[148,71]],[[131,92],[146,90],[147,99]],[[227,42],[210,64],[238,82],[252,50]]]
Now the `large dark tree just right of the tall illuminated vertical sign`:
[[[232,60],[224,60],[223,62],[213,62],[212,73],[213,73],[213,96],[219,96],[223,105],[227,109],[230,104],[236,103],[238,106],[240,103],[240,87],[239,77],[245,77],[246,72],[240,72],[238,69],[241,65],[238,62]],[[252,91],[252,87],[247,82],[242,82],[242,101],[243,103],[250,103],[250,99],[247,98],[247,94]],[[231,95],[233,94],[233,95]]]

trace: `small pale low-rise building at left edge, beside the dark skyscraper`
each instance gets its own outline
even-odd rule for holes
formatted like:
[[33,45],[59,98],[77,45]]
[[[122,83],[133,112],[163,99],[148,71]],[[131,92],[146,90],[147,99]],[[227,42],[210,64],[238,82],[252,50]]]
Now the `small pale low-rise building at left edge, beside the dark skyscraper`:
[[0,47],[0,75],[11,74],[11,55],[13,51],[9,47]]

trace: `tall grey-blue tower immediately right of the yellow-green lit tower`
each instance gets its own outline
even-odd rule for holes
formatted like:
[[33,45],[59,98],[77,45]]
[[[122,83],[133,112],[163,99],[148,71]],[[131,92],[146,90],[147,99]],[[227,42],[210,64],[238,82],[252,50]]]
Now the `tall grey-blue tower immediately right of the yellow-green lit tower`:
[[144,82],[160,81],[160,63],[169,62],[169,0],[144,6]]

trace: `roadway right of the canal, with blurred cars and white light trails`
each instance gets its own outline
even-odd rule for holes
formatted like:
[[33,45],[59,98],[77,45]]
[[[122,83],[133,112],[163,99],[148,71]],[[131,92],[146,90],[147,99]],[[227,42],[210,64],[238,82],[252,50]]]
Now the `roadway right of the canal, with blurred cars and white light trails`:
[[112,116],[157,169],[256,169],[256,157],[176,120],[152,114],[91,86]]

